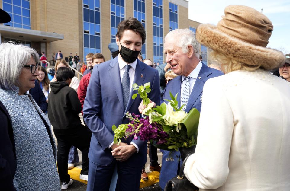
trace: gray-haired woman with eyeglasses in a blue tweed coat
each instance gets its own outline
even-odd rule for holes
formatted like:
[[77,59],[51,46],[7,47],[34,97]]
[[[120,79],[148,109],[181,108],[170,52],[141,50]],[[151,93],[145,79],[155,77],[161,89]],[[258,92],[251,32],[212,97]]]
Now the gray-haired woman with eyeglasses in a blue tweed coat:
[[[19,190],[60,190],[50,122],[27,91],[39,75],[39,56],[27,46],[0,45],[0,101],[11,116]],[[5,145],[4,145],[5,146]]]

